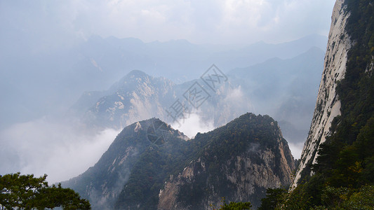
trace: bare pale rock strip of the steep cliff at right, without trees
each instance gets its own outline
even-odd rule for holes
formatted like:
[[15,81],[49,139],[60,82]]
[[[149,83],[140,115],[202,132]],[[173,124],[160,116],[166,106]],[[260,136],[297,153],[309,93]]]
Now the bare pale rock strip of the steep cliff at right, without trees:
[[344,0],[336,1],[312,125],[291,188],[295,188],[300,179],[311,173],[310,165],[316,163],[319,145],[326,141],[326,137],[330,134],[333,119],[340,115],[341,104],[336,94],[336,87],[338,81],[345,77],[347,53],[352,47],[352,41],[345,30],[349,18],[345,8]]

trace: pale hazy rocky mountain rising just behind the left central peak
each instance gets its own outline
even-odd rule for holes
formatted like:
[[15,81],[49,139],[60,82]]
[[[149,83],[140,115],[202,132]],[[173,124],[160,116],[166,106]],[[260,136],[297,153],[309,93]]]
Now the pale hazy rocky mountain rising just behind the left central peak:
[[93,127],[130,125],[138,120],[157,116],[164,118],[163,107],[171,101],[174,83],[154,78],[142,71],[131,71],[107,90],[107,94],[84,113],[84,120]]

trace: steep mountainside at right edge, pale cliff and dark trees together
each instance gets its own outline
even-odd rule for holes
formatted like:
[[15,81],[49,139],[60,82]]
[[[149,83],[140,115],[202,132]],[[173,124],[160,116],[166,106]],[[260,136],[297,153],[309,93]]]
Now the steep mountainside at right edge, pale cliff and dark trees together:
[[338,0],[290,209],[374,207],[374,1]]

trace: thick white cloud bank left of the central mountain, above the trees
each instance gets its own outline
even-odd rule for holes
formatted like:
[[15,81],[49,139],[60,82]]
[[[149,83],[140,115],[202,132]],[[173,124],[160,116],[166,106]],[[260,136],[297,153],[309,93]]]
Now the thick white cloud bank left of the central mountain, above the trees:
[[0,173],[47,174],[50,183],[65,181],[98,162],[118,133],[84,133],[46,118],[13,125],[0,133],[1,159],[6,160]]

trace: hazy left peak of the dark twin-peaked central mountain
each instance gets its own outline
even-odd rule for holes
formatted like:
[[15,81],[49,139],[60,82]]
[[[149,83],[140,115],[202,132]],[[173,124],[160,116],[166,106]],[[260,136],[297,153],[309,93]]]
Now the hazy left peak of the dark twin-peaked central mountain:
[[172,146],[175,149],[187,144],[185,135],[156,118],[133,123],[118,134],[93,167],[62,182],[62,185],[73,188],[81,197],[90,200],[94,209],[113,209],[123,186],[131,179],[133,168],[138,167],[145,153],[157,148],[159,143],[152,134],[162,135],[161,140],[167,140],[165,148]]

